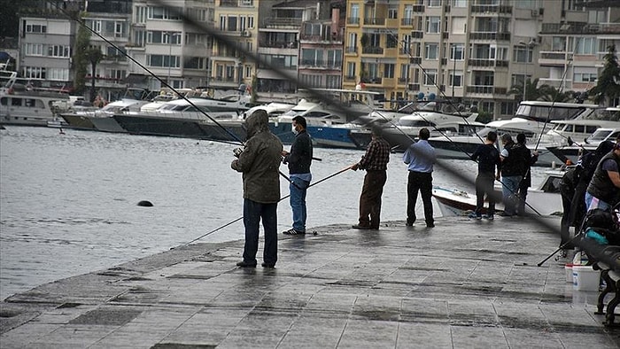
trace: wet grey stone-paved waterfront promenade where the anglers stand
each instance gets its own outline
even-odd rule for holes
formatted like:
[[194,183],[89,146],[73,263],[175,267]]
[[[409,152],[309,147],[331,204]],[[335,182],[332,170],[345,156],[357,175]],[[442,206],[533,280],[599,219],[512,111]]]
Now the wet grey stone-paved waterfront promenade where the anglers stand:
[[195,244],[45,284],[2,303],[0,347],[619,346],[596,292],[573,291],[553,258],[536,266],[559,242],[550,229],[436,224],[280,235],[275,269],[236,268],[243,242]]

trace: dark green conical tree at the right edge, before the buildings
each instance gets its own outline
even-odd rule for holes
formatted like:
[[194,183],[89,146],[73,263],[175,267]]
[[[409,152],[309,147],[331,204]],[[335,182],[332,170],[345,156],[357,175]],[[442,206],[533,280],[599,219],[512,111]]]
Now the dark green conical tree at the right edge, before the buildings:
[[592,89],[588,90],[588,96],[593,96],[595,103],[604,102],[612,105],[613,101],[620,97],[620,66],[616,56],[616,45],[609,45],[607,53],[603,56],[605,63],[599,79]]

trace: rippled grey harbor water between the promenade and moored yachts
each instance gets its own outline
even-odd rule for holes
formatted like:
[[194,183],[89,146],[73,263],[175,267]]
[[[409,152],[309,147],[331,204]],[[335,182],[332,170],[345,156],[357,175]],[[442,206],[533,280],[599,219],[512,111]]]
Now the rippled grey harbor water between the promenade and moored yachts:
[[[235,147],[73,129],[65,134],[58,128],[0,130],[0,299],[198,237],[198,243],[243,239],[241,174],[230,168]],[[313,163],[313,182],[362,154],[316,148],[314,156],[322,161]],[[406,218],[407,167],[401,157],[391,155],[382,221]],[[436,185],[473,192],[473,185],[455,174],[473,180],[476,163],[442,164],[447,167],[436,167],[433,174]],[[281,169],[288,174],[284,165]],[[532,169],[534,185],[544,170]],[[356,223],[363,176],[349,170],[310,188],[307,226]],[[288,195],[288,182],[281,183],[282,195]],[[142,200],[153,206],[137,206]],[[236,222],[219,229],[231,221]],[[291,209],[283,199],[279,230],[290,223]]]

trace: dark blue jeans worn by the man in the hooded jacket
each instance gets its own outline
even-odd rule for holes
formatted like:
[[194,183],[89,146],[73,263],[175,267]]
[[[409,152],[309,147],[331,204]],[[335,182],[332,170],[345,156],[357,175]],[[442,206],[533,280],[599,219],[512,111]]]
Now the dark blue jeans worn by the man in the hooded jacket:
[[261,204],[244,198],[244,262],[256,264],[256,252],[259,251],[259,229],[262,219],[265,229],[265,248],[263,250],[263,261],[267,264],[274,264],[278,260],[278,215],[277,203]]

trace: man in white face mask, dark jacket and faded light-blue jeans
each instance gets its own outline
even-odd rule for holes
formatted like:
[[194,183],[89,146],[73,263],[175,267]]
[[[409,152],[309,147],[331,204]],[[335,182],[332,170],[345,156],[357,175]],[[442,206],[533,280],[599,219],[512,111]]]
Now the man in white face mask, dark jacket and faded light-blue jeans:
[[312,140],[306,132],[306,119],[303,116],[293,118],[292,131],[295,141],[291,152],[282,151],[283,163],[289,165],[291,184],[291,209],[293,212],[292,228],[283,232],[286,235],[306,234],[306,190],[312,181],[310,165],[312,164]]

